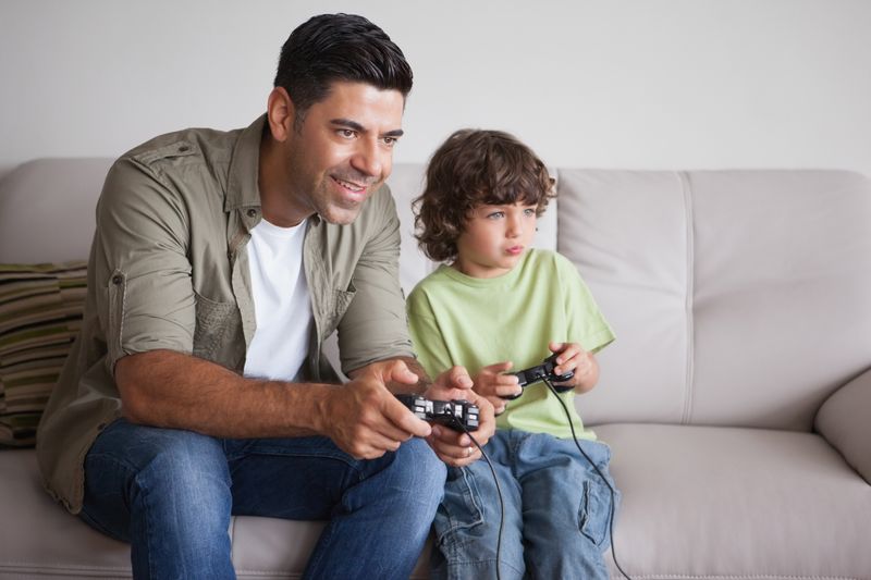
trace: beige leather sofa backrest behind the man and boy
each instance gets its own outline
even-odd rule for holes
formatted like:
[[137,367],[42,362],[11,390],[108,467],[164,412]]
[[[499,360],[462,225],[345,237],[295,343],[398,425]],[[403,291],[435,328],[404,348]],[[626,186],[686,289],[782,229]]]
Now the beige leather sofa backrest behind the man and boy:
[[[41,159],[0,181],[0,262],[86,259],[111,159]],[[410,209],[422,164],[390,178],[406,292],[436,264]],[[809,431],[871,367],[871,182],[844,171],[554,170],[536,245],[578,267],[617,341],[590,424]],[[557,206],[559,203],[559,206]],[[542,281],[542,283],[548,283]]]

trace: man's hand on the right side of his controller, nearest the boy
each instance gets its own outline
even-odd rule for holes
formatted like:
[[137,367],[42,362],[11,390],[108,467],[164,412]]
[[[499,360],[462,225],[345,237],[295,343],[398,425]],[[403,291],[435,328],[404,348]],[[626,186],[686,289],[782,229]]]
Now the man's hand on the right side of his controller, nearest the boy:
[[[475,441],[483,447],[496,428],[493,406],[471,387],[473,382],[466,369],[454,367],[441,373],[424,396],[430,400],[465,399],[477,405],[478,430],[473,434]],[[467,433],[457,432],[444,425],[432,425],[432,433],[427,437],[427,442],[436,455],[450,466],[467,466],[481,456],[481,452]]]

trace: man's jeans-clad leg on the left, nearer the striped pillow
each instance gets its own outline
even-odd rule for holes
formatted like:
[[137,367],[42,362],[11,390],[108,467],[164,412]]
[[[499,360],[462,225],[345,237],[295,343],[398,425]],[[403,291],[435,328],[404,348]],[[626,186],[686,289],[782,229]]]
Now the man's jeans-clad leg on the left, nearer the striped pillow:
[[134,578],[235,578],[220,440],[110,424],[85,458],[82,519],[131,543]]

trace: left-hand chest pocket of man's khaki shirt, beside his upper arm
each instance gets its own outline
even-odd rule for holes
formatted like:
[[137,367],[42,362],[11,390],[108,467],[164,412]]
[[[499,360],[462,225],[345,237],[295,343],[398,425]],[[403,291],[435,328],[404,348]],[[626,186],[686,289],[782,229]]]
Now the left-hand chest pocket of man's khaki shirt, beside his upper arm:
[[241,370],[245,356],[242,316],[235,303],[217,303],[194,293],[194,356]]

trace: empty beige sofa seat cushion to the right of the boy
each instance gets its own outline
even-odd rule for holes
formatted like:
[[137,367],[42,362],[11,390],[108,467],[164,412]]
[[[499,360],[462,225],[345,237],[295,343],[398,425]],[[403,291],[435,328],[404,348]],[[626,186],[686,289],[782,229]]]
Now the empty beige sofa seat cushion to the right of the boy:
[[[814,433],[602,424],[629,576],[867,579],[871,486]],[[617,577],[614,575],[614,577]]]

